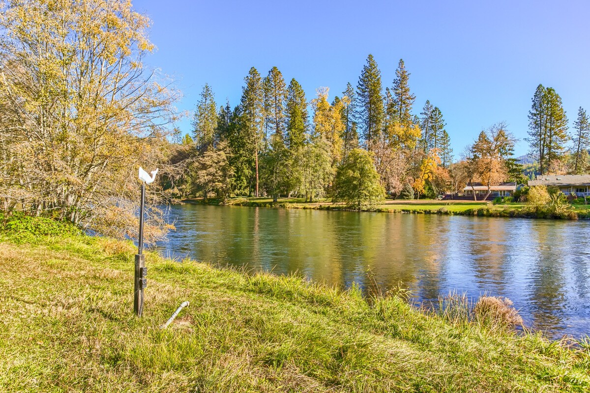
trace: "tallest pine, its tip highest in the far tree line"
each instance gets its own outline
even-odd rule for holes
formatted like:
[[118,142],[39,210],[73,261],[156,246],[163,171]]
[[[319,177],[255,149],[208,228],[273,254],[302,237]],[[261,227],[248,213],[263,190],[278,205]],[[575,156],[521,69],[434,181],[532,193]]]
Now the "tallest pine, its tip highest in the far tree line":
[[363,140],[365,146],[371,150],[373,142],[379,140],[384,115],[381,71],[371,54],[367,57],[367,64],[363,66],[356,90]]

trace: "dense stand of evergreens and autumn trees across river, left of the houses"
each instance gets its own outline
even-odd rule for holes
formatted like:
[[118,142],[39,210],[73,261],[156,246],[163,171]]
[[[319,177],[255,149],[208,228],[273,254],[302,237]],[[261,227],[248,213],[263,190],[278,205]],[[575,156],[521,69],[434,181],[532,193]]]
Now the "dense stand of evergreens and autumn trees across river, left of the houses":
[[383,90],[381,71],[369,55],[356,88],[349,82],[330,98],[329,88],[320,87],[307,100],[299,82],[287,84],[277,67],[264,77],[253,67],[234,108],[228,102],[217,107],[205,84],[192,132],[170,157],[185,164],[185,176],[168,179],[168,186],[204,197],[266,194],[313,201],[337,194],[338,169],[360,149],[356,154],[371,157],[383,193],[396,196],[408,183],[434,196],[450,179],[453,149],[440,108],[427,101],[413,114],[409,76],[400,60],[391,88]]

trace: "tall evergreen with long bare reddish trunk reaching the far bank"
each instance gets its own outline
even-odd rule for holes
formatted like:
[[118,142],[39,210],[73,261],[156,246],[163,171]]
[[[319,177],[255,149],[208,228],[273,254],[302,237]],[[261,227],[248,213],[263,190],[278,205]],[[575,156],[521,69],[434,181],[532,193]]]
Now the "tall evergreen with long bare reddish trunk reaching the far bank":
[[[244,148],[254,158],[254,195],[258,196],[258,156],[263,147],[264,134],[264,91],[262,79],[256,68],[250,68],[244,81],[240,100],[240,128],[244,137]],[[252,187],[249,188],[251,191]]]

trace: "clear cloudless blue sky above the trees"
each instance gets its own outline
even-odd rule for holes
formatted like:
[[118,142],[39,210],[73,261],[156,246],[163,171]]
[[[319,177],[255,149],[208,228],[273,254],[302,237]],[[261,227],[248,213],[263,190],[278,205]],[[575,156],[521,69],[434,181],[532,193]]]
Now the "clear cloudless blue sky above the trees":
[[[414,113],[426,100],[447,122],[455,156],[482,128],[506,121],[528,150],[527,114],[539,83],[562,97],[570,125],[590,111],[590,2],[577,1],[162,1],[134,0],[153,21],[147,60],[172,75],[194,110],[205,82],[217,104],[238,104],[250,67],[296,78],[314,98],[355,87],[369,53],[391,87],[400,58]],[[179,124],[190,130],[190,119]]]

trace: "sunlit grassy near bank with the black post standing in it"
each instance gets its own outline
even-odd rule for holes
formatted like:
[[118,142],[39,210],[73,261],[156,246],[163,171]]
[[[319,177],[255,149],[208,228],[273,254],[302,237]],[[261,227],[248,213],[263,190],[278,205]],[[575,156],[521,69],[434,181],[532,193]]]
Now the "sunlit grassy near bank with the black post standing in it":
[[[590,389],[584,343],[155,253],[137,319],[130,243],[13,235],[0,234],[2,392]],[[191,305],[159,329],[183,300]]]

